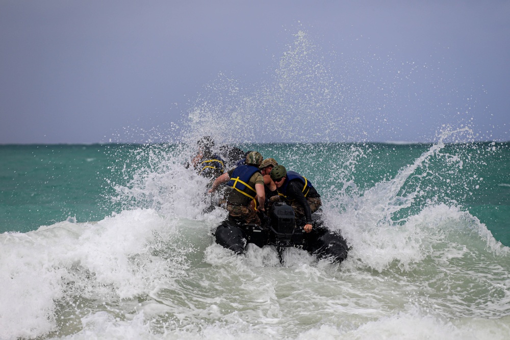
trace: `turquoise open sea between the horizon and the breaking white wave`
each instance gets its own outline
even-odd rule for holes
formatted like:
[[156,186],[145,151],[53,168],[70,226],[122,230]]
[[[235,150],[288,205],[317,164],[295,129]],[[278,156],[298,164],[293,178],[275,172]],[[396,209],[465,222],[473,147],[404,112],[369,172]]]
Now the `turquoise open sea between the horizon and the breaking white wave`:
[[[350,185],[359,193],[388,181],[432,144],[250,144],[316,178],[322,195]],[[99,221],[125,205],[114,187],[127,185],[135,169],[149,167],[151,152],[175,145],[2,145],[0,232],[36,230],[68,218]],[[156,160],[157,161],[157,160]],[[153,165],[154,166],[154,165]],[[156,167],[156,166],[154,166]],[[336,167],[336,168],[333,168]],[[401,190],[420,189],[413,207],[427,200],[461,206],[494,237],[510,246],[510,150],[508,143],[448,144],[427,159]],[[402,212],[401,212],[402,213]],[[404,215],[409,213],[404,213]]]

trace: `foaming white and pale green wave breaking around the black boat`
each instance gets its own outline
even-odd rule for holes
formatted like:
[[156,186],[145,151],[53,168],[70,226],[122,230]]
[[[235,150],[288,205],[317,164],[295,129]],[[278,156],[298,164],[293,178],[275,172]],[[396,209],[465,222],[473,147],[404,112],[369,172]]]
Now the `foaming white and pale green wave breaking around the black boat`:
[[[364,210],[325,214],[352,246],[341,265],[299,249],[286,250],[283,267],[271,247],[237,256],[213,242],[221,214],[199,221],[135,209],[4,233],[0,337],[302,338],[336,330],[366,338],[408,320],[413,327],[395,333],[405,338],[429,323],[464,334],[466,326],[442,320],[510,313],[509,249],[469,213],[433,205],[404,224],[377,226]],[[410,315],[413,306],[420,313]],[[323,326],[299,322],[301,313]]]

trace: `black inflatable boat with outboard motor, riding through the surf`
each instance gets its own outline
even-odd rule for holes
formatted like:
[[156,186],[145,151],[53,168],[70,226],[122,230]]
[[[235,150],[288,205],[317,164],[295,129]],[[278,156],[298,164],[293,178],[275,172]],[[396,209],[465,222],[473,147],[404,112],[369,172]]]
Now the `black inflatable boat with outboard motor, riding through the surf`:
[[305,232],[305,221],[295,218],[293,208],[276,202],[267,217],[261,216],[262,225],[228,219],[216,228],[214,236],[216,243],[238,254],[244,253],[248,243],[252,243],[261,248],[275,246],[281,261],[283,250],[288,247],[302,248],[318,258],[343,261],[348,247],[342,235],[324,227],[317,213],[312,217],[312,231]]

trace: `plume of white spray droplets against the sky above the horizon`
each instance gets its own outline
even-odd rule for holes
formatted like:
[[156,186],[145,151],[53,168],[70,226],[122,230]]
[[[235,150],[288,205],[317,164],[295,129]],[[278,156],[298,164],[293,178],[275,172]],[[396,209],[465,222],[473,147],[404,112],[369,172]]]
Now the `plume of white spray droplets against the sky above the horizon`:
[[190,110],[187,140],[203,135],[224,143],[328,142],[339,136],[353,140],[360,137],[353,133],[358,131],[361,111],[371,109],[354,106],[339,111],[349,102],[364,101],[364,93],[331,76],[320,48],[303,31],[295,35],[269,80],[251,86],[239,83],[220,74],[206,87]]

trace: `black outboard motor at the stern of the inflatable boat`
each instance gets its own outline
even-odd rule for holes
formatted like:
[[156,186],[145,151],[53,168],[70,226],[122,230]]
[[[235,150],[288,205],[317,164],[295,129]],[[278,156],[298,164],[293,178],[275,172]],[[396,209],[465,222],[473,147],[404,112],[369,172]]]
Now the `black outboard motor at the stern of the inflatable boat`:
[[275,202],[269,213],[269,243],[277,247],[292,247],[295,231],[294,209],[284,202]]

